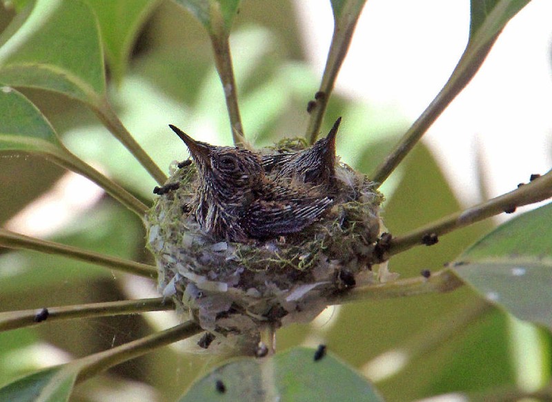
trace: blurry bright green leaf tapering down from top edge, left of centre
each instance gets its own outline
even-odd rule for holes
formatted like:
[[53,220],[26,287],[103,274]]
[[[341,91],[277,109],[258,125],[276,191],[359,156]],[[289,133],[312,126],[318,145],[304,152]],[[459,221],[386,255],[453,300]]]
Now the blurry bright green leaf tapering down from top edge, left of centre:
[[112,77],[120,83],[139,30],[159,0],[88,0],[98,17]]

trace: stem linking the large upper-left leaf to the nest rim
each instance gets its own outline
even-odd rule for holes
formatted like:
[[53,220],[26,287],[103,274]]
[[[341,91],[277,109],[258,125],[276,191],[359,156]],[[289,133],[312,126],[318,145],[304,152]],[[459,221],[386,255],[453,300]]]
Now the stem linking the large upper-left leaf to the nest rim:
[[132,137],[130,132],[126,130],[126,127],[121,123],[117,114],[112,110],[108,100],[103,97],[101,101],[97,102],[95,108],[93,108],[97,117],[108,128],[113,136],[119,140],[130,153],[141,163],[142,166],[148,171],[148,173],[157,181],[159,185],[163,185],[167,181],[166,174],[159,169],[155,162],[146,154],[139,143]]

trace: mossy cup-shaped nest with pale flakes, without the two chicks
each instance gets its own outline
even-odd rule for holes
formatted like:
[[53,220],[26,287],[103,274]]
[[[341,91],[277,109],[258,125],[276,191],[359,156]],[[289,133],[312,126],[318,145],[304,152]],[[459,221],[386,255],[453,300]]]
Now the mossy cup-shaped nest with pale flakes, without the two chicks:
[[[303,141],[286,140],[263,152],[302,148]],[[204,234],[193,211],[195,165],[171,170],[167,183],[179,185],[148,212],[147,245],[157,259],[161,292],[205,330],[253,345],[261,325],[309,321],[329,294],[375,281],[371,265],[383,196],[348,165],[335,165],[334,205],[322,219],[296,234],[248,243]]]

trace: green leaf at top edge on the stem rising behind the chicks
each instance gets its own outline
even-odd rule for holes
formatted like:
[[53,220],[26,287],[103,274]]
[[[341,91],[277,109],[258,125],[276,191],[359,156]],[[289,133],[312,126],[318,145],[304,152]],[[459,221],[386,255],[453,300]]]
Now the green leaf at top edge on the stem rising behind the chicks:
[[225,32],[232,27],[240,0],[175,0],[177,4],[190,11],[206,28],[209,34]]

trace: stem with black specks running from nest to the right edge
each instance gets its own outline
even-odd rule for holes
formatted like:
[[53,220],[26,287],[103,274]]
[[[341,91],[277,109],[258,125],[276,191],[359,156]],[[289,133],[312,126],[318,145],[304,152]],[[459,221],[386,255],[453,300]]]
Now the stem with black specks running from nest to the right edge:
[[482,221],[508,210],[514,210],[516,207],[522,205],[543,201],[550,197],[552,197],[552,170],[516,190],[502,194],[499,197],[475,205],[462,212],[451,214],[403,236],[393,238],[390,243],[389,254],[397,254],[415,245],[423,244],[422,238],[426,234],[436,234],[437,236],[446,234],[471,223]]

